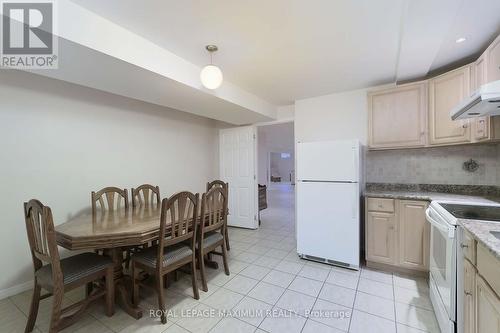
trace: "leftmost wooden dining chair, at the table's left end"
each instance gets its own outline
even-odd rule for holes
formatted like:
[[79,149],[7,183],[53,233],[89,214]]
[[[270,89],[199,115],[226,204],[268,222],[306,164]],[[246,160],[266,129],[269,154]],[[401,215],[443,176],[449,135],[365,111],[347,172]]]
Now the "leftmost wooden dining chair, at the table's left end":
[[[34,289],[25,332],[32,332],[40,300],[53,296],[49,332],[73,324],[94,300],[106,298],[106,315],[114,314],[113,261],[95,253],[60,259],[49,207],[38,200],[24,203],[24,219],[34,267]],[[104,290],[93,290],[84,300],[62,308],[64,293],[104,278]],[[41,295],[42,289],[48,293]]]

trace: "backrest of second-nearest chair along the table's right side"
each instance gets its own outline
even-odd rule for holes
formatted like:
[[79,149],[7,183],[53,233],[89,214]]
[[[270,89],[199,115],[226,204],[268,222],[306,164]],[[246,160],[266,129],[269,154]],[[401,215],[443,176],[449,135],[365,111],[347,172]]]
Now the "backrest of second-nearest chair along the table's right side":
[[[227,215],[227,194],[222,187],[212,187],[201,197],[200,235],[222,229]],[[203,239],[201,237],[200,239]]]

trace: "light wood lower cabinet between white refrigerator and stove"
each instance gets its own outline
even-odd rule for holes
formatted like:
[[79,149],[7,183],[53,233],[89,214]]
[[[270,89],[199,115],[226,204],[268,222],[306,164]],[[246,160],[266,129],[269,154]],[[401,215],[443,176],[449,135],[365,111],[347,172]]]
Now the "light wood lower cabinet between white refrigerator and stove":
[[428,271],[427,201],[366,198],[366,261]]

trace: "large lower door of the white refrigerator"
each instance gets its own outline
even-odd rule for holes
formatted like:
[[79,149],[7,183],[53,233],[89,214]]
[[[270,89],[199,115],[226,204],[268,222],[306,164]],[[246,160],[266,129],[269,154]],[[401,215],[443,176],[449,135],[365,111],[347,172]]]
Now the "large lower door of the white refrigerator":
[[297,183],[297,252],[359,267],[359,185]]

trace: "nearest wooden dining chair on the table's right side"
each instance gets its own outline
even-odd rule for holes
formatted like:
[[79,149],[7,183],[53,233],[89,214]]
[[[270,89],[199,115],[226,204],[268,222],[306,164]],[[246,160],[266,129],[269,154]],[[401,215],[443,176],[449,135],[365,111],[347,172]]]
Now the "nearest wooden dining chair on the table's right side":
[[196,231],[199,194],[180,192],[162,200],[158,245],[132,255],[133,303],[139,303],[139,287],[148,287],[139,278],[139,270],[155,275],[158,306],[165,324],[163,299],[164,276],[191,264],[191,280],[195,299],[199,299],[196,281]]

